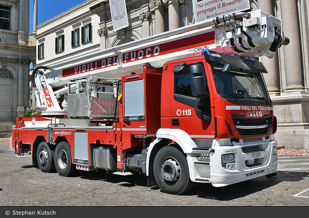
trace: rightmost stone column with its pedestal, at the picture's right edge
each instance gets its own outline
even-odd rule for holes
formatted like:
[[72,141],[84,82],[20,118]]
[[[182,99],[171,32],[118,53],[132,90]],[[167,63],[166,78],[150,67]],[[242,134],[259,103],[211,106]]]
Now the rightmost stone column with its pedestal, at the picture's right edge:
[[274,115],[278,120],[277,144],[284,148],[309,149],[309,93],[302,82],[302,60],[299,41],[299,20],[296,0],[276,1],[281,6],[283,32],[290,39],[283,46],[285,91],[273,96]]

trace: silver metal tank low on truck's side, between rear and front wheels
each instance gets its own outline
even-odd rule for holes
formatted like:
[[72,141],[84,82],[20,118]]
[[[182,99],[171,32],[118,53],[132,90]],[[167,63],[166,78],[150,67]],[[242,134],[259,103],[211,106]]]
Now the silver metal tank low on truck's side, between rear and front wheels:
[[117,152],[112,146],[97,146],[93,150],[94,167],[99,169],[116,170]]

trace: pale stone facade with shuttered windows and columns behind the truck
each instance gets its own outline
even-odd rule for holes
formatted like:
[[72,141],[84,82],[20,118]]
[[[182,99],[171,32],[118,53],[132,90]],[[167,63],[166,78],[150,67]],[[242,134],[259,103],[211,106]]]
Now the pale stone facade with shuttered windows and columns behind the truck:
[[[290,44],[280,48],[274,58],[260,58],[269,71],[264,78],[278,119],[275,139],[286,148],[309,149],[309,2],[250,2],[252,8],[282,19],[284,34],[290,39]],[[37,64],[58,64],[195,23],[192,0],[126,0],[126,4],[129,27],[117,31],[112,27],[108,0],[87,0],[39,25]],[[87,34],[91,38],[85,41],[89,24]]]

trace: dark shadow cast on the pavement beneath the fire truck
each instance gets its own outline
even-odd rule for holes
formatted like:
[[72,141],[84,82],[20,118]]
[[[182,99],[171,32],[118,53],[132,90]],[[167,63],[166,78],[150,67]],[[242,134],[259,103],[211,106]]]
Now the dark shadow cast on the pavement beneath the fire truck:
[[[32,165],[25,165],[22,167],[28,168],[32,167]],[[38,167],[35,168],[40,170]],[[143,174],[138,173],[129,176],[121,176],[121,175],[114,175],[112,174],[112,172],[106,173],[105,170],[98,172],[97,171],[85,172],[82,170],[78,170],[77,174],[75,174],[72,177],[79,177],[85,180],[104,181],[119,184],[120,186],[123,187],[135,187],[135,186],[147,187],[147,177]],[[196,183],[195,187],[191,191],[188,191],[183,195],[184,196],[196,195],[197,197],[206,199],[228,201],[250,195],[257,191],[268,189],[284,181],[300,182],[305,179],[309,180],[309,172],[277,171],[277,176],[274,177],[261,176],[255,179],[251,179],[248,181],[220,188],[213,187],[211,184]],[[150,187],[150,189],[158,190],[159,187],[152,186]]]

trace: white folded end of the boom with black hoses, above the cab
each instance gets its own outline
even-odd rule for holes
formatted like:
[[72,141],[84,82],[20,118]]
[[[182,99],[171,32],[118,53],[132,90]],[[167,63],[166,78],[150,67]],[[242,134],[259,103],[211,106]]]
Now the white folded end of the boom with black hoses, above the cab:
[[216,43],[224,53],[272,58],[281,45],[289,43],[283,35],[281,20],[261,10],[249,12],[249,16],[247,13],[238,14],[241,15],[244,17],[242,22],[230,15],[217,18],[222,22],[214,25],[217,28]]

